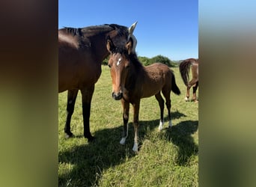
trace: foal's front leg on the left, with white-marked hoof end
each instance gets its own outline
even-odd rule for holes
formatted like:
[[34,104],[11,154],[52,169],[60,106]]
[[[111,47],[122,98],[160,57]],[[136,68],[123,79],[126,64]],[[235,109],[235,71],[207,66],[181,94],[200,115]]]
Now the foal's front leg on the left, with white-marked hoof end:
[[123,129],[123,136],[120,141],[120,144],[125,144],[125,141],[128,137],[128,120],[129,120],[129,102],[121,99],[122,106],[123,106],[123,121],[124,121],[124,129]]

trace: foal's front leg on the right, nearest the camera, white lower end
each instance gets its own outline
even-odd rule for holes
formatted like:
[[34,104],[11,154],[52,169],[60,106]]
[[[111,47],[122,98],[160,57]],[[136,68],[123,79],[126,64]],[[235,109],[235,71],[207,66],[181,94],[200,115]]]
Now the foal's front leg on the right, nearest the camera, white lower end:
[[138,152],[138,111],[140,100],[132,104],[133,107],[133,126],[134,126],[134,144],[132,150]]

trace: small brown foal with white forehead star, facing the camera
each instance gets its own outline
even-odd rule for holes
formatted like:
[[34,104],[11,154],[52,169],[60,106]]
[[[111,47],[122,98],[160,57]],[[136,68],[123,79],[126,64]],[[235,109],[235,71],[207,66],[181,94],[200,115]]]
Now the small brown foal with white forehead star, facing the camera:
[[[160,107],[159,130],[162,129],[164,118],[164,104],[168,108],[169,126],[171,126],[171,99],[173,91],[180,94],[180,89],[175,83],[173,71],[165,64],[155,63],[144,67],[132,52],[132,40],[129,40],[126,47],[116,47],[112,40],[108,40],[107,49],[111,53],[109,67],[112,76],[112,96],[114,99],[121,99],[124,109],[124,132],[120,141],[125,144],[128,136],[129,103],[133,107],[134,145],[132,150],[138,151],[138,111],[141,98],[156,96]],[[164,99],[162,99],[161,91]]]

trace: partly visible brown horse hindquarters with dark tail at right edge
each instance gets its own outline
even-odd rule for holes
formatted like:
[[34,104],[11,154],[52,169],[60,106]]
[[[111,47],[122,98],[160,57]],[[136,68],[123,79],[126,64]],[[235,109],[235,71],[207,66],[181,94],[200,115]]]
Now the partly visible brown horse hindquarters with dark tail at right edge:
[[[188,58],[180,63],[180,74],[183,79],[184,84],[186,85],[186,97],[185,100],[189,100],[189,90],[193,86],[193,96],[192,100],[195,102],[198,101],[196,98],[196,90],[198,89],[198,59]],[[191,67],[192,80],[189,82],[189,69]]]

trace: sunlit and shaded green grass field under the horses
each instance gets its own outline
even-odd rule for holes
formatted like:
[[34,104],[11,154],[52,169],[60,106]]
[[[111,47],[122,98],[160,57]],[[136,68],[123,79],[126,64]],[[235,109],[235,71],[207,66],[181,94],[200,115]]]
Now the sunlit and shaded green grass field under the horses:
[[162,132],[159,106],[154,96],[141,99],[139,151],[133,153],[132,107],[129,137],[119,144],[123,131],[121,102],[112,99],[109,67],[95,86],[91,103],[91,134],[83,137],[81,94],[77,96],[71,120],[75,138],[64,137],[67,92],[58,102],[58,183],[59,186],[198,186],[198,103],[185,102],[186,87],[178,68],[172,68],[180,96],[171,93],[173,127],[167,129],[167,109]]

